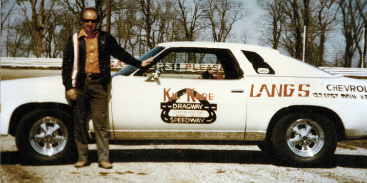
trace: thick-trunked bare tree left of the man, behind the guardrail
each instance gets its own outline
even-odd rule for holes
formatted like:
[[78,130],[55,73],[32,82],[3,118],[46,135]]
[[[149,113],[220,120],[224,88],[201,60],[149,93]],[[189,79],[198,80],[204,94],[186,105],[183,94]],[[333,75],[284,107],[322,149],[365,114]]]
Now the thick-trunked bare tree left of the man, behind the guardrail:
[[[42,45],[44,39],[45,26],[49,22],[51,11],[55,5],[55,0],[46,4],[45,0],[16,0],[16,3],[24,12],[24,17],[28,21],[33,39],[33,53],[36,57],[42,56]],[[48,5],[48,6],[47,6]],[[28,18],[27,9],[31,11],[31,18]]]

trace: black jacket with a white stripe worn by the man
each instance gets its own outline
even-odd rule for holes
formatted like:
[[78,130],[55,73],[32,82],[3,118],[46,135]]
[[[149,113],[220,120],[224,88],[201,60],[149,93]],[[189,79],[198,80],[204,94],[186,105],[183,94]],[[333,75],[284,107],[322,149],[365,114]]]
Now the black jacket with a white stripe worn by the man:
[[[103,84],[108,84],[111,80],[111,55],[118,60],[140,68],[141,62],[131,56],[127,51],[121,48],[116,39],[108,32],[99,31],[98,36],[98,63],[101,75],[101,81]],[[85,78],[85,60],[86,60],[86,42],[84,36],[78,39],[79,41],[79,66],[78,75],[76,77],[76,87],[82,88],[84,86]],[[72,85],[72,69],[74,63],[74,48],[73,48],[72,36],[69,38],[65,45],[64,56],[63,56],[63,84],[66,91],[74,88]]]

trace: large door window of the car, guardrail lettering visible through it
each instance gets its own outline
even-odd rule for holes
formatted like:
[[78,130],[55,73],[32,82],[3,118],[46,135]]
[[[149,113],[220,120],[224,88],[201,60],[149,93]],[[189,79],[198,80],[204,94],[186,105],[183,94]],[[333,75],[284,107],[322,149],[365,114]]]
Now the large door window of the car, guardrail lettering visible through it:
[[157,56],[154,65],[142,76],[159,72],[162,78],[228,79],[233,75],[238,78],[241,74],[238,69],[233,70],[236,67],[230,66],[230,62],[237,63],[225,49],[171,48]]

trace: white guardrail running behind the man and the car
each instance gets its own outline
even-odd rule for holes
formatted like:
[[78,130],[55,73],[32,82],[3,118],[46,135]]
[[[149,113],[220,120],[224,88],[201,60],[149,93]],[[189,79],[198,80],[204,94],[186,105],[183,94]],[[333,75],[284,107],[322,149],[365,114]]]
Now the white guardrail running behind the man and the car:
[[[1,66],[7,67],[36,67],[36,68],[61,68],[62,58],[23,58],[23,57],[1,57]],[[111,68],[122,68],[126,64],[118,62],[117,59],[111,60]],[[341,67],[320,67],[332,74],[345,76],[367,77],[367,68],[341,68]]]

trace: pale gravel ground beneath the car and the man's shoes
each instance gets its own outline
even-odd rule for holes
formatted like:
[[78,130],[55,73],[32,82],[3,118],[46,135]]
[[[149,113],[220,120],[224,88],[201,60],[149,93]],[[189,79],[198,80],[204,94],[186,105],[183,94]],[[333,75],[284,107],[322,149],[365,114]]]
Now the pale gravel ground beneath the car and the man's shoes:
[[14,137],[1,137],[1,182],[367,182],[367,140],[342,141],[336,166],[293,168],[273,165],[257,146],[110,145],[113,169],[91,165],[27,165]]

